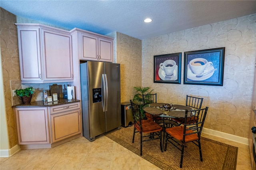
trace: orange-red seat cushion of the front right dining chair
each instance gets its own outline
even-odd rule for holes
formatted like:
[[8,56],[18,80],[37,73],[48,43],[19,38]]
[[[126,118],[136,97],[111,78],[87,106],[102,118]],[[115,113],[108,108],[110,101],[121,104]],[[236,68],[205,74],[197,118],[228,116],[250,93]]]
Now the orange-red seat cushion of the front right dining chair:
[[[172,137],[182,141],[183,140],[183,129],[184,129],[184,126],[171,127],[171,128],[166,128],[166,132],[168,134],[170,134]],[[192,133],[192,132],[194,132],[194,131],[193,130],[187,130],[186,134]],[[198,136],[197,136],[196,133],[189,134],[189,135],[185,136],[185,143],[186,142],[192,142],[192,141],[195,141],[195,140],[198,140]]]

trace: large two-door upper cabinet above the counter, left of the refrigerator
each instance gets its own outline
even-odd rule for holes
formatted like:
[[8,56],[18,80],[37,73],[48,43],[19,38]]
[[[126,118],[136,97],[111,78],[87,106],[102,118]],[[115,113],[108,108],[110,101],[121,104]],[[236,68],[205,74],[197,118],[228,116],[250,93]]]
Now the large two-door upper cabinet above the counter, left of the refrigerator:
[[72,36],[41,24],[16,24],[22,83],[73,81]]

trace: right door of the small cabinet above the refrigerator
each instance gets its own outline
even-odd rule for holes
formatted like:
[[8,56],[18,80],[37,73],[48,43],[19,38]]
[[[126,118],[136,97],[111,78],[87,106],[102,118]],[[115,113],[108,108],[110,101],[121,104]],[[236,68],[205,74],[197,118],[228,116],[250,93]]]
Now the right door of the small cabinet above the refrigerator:
[[113,61],[113,42],[102,38],[98,39],[99,44],[99,60],[100,61]]

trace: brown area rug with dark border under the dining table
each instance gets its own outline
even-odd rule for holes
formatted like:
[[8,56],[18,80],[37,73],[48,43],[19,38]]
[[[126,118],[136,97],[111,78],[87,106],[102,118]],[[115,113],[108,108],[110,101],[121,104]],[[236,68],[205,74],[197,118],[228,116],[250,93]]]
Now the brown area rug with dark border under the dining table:
[[[133,126],[120,128],[106,136],[132,152],[140,155],[140,134],[135,134],[132,143]],[[199,149],[188,143],[184,150],[182,170],[235,170],[238,148],[222,142],[201,137],[203,162],[200,161]],[[180,150],[168,143],[167,150],[160,151],[159,140],[142,143],[142,158],[158,166],[162,170],[180,169]]]

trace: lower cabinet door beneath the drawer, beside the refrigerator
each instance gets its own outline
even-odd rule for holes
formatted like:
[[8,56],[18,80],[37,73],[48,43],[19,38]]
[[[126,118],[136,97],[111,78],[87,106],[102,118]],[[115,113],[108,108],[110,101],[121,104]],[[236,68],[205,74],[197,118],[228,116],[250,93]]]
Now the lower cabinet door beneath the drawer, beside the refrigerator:
[[80,109],[51,115],[52,143],[81,133]]

